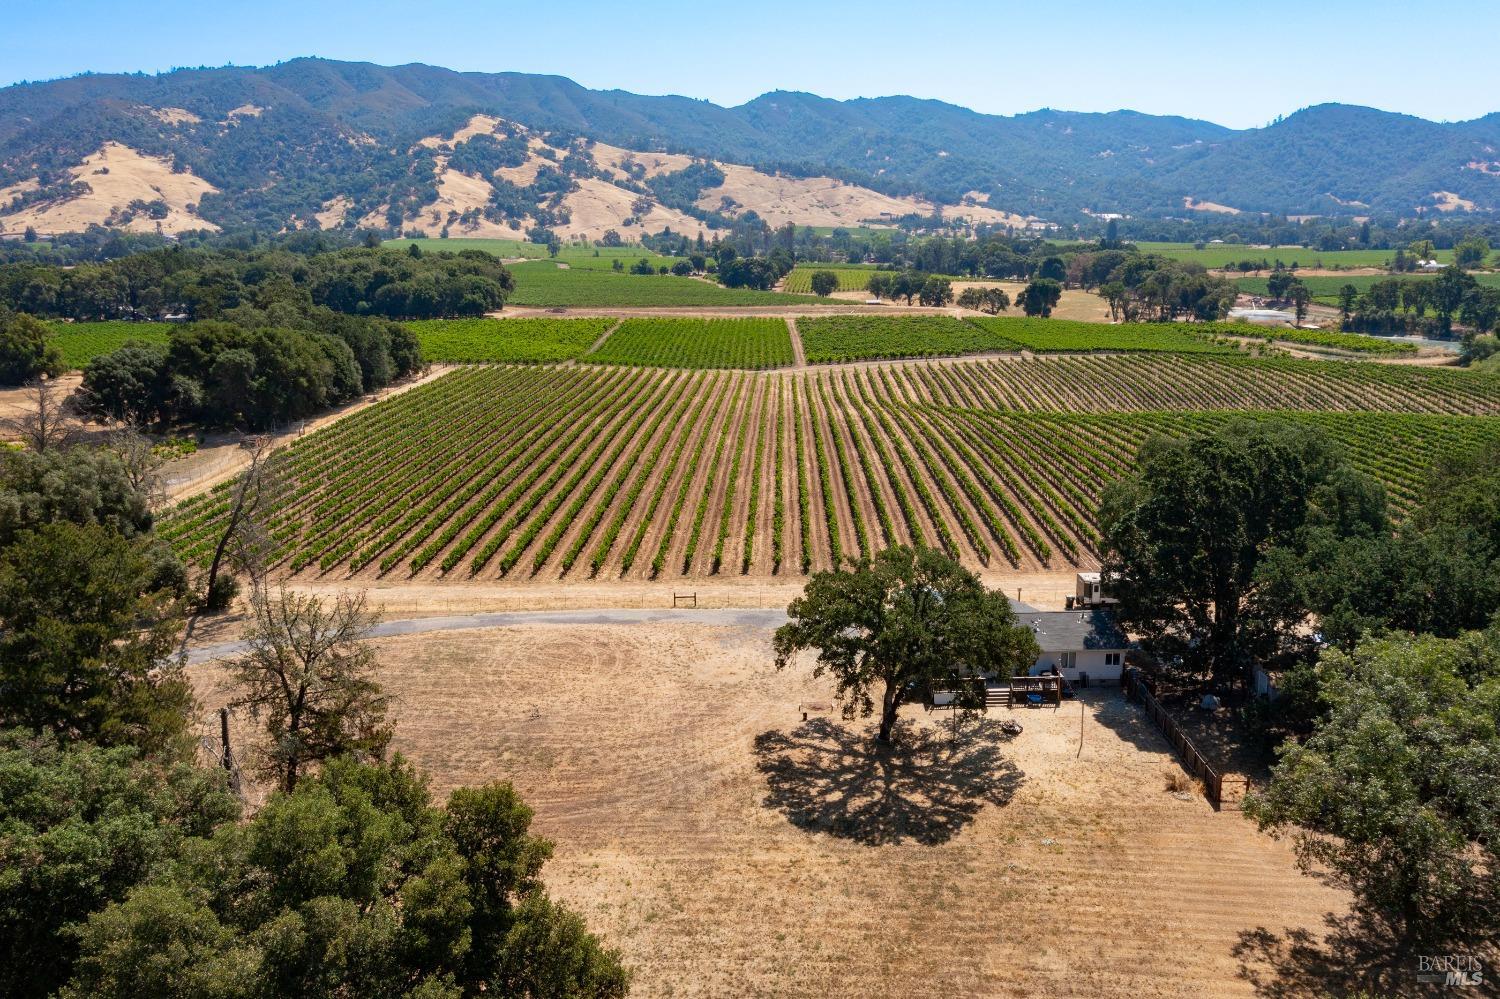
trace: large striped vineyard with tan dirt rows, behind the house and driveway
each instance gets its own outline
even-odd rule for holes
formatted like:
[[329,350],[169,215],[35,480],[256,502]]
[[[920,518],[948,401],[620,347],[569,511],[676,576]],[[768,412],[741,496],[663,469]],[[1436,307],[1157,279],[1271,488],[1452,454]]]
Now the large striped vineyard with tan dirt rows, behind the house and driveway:
[[[795,576],[908,542],[1092,566],[1140,444],[1245,405],[1320,428],[1398,507],[1438,453],[1500,438],[1496,380],[1292,358],[472,366],[280,452],[266,528],[279,572],[330,579]],[[206,561],[231,488],[164,537]]]

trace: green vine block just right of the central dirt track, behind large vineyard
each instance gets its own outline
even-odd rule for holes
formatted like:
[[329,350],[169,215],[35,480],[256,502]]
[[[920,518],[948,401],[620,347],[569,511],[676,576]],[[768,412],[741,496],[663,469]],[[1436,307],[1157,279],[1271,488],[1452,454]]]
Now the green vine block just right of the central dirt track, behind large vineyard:
[[1020,350],[1014,340],[946,315],[831,315],[798,320],[796,332],[812,364]]

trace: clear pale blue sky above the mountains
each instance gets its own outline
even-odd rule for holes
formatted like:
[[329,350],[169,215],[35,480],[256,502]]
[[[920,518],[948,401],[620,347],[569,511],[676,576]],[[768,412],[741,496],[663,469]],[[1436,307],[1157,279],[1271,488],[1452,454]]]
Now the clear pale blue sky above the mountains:
[[[1340,100],[1500,110],[1500,3],[1402,0],[3,0],[0,84],[297,56],[570,76],[742,104],[906,93],[992,114],[1182,114],[1245,128]],[[1424,24],[1424,14],[1440,21]]]

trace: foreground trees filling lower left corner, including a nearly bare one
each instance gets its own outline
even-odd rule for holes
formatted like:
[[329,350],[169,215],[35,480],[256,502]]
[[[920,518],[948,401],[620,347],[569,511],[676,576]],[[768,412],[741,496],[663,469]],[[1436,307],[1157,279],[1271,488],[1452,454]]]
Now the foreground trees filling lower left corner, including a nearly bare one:
[[0,993],[622,996],[513,788],[434,807],[388,753],[362,597],[255,592],[228,678],[258,735],[200,760],[192,590],[129,471],[0,454]]

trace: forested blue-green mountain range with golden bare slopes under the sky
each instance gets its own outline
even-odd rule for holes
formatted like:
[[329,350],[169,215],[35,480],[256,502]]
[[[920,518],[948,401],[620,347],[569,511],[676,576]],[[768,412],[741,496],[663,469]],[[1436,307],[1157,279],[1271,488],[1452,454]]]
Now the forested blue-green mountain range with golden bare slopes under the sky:
[[[489,138],[459,153],[453,138],[476,116],[494,122],[480,130]],[[618,156],[620,168],[598,156],[568,164],[568,152],[596,142],[678,158],[654,172]],[[472,168],[502,162],[514,170],[518,159],[538,158],[550,162],[524,170],[531,183]],[[1434,123],[1320,105],[1233,130],[1134,111],[988,116],[902,96],[831,100],[774,92],[724,108],[588,90],[561,76],[322,58],[0,88],[6,231],[22,222],[182,230],[309,225],[315,218],[410,228],[430,224],[435,206],[471,222],[488,214],[490,225],[562,224],[576,208],[554,172],[574,194],[582,180],[618,188],[620,196],[603,189],[591,196],[634,204],[639,212],[622,214],[622,224],[651,214],[639,198],[656,201],[663,219],[702,219],[753,207],[736,196],[744,184],[716,192],[728,183],[718,180],[723,165],[753,168],[741,178],[750,186],[770,189],[764,178],[772,177],[826,178],[816,182],[818,190],[852,188],[896,200],[879,202],[886,218],[934,206],[994,213],[975,220],[1014,214],[1064,224],[1106,213],[1488,213],[1500,208],[1500,112]],[[474,183],[459,190],[450,177],[456,186],[446,195],[446,174],[458,172]],[[798,190],[818,202],[812,189]],[[858,212],[864,202],[850,204]],[[814,224],[795,213],[790,220]],[[588,234],[588,226],[574,228]]]

